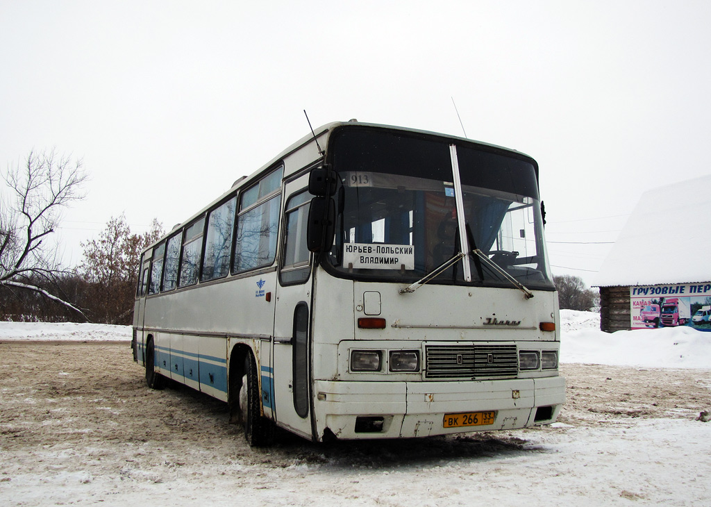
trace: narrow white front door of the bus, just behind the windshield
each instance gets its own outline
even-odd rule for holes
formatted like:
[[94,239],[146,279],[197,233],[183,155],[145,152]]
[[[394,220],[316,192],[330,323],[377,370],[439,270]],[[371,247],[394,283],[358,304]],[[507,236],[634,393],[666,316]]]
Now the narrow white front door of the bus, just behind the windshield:
[[311,439],[311,263],[306,177],[287,183],[274,316],[274,412],[280,426]]

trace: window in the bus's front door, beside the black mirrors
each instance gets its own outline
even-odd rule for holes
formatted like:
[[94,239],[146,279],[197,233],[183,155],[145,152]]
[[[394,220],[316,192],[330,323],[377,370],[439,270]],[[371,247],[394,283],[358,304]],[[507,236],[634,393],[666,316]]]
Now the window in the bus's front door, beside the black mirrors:
[[309,219],[311,194],[302,191],[287,201],[284,223],[284,256],[282,258],[282,284],[305,282],[309,278],[309,257],[306,247],[306,221]]

